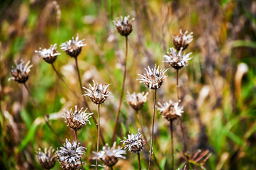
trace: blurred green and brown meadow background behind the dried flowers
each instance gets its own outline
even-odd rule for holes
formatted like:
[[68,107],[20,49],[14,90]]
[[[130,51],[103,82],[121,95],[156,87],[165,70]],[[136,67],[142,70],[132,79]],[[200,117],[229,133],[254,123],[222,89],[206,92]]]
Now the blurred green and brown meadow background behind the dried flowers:
[[[60,148],[54,134],[31,101],[23,84],[9,81],[14,61],[33,64],[26,82],[31,95],[60,140],[74,140],[74,132],[65,123],[65,111],[84,107],[77,79],[76,64],[60,49],[62,42],[79,35],[87,46],[77,57],[82,85],[92,80],[111,84],[109,96],[101,105],[101,132],[111,143],[123,80],[126,39],[115,30],[116,17],[135,18],[128,36],[126,86],[116,131],[116,142],[128,133],[137,133],[135,111],[126,101],[127,91],[149,92],[140,111],[143,130],[150,142],[154,90],[137,80],[155,63],[168,68],[167,78],[157,90],[157,102],[177,101],[176,72],[162,62],[173,47],[172,35],[179,29],[193,32],[187,52],[191,60],[179,72],[179,96],[184,106],[182,125],[187,151],[208,150],[211,157],[204,167],[192,169],[256,169],[256,1],[254,0],[77,0],[40,1],[4,0],[0,2],[0,169],[43,169],[35,157],[38,148]],[[51,65],[35,50],[57,43],[60,55],[54,62],[62,78],[74,89],[74,96],[57,77]],[[97,106],[87,96],[87,103],[97,118]],[[171,169],[169,122],[159,111],[155,114],[152,169]],[[84,169],[95,169],[97,128],[89,119],[79,130],[79,143],[87,147]],[[103,143],[100,140],[99,148]],[[182,169],[179,121],[174,121],[175,169]],[[149,147],[140,154],[142,169],[148,169]],[[136,154],[126,152],[113,169],[138,169]],[[99,161],[99,164],[102,164]],[[191,163],[193,164],[193,162]],[[187,169],[191,168],[187,166]],[[60,169],[56,162],[53,169]],[[102,169],[101,167],[99,169]]]

